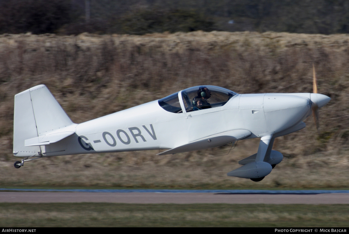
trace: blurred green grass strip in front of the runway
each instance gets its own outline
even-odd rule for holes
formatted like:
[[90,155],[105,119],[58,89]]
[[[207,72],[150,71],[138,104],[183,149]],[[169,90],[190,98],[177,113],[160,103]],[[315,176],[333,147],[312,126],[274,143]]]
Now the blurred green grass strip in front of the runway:
[[1,227],[347,227],[349,205],[0,203]]

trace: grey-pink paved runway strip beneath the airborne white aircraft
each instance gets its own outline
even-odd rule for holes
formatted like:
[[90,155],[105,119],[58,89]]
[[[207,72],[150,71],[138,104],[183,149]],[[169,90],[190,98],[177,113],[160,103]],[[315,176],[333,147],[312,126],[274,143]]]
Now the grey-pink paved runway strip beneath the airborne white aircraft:
[[349,193],[0,192],[0,202],[349,204]]

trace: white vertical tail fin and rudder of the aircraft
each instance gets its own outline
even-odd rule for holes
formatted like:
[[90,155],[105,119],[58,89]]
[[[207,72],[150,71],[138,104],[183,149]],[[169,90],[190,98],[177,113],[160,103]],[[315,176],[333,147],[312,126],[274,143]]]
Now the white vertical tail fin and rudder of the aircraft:
[[40,146],[24,146],[24,141],[73,124],[45,85],[15,95],[13,154],[33,156]]

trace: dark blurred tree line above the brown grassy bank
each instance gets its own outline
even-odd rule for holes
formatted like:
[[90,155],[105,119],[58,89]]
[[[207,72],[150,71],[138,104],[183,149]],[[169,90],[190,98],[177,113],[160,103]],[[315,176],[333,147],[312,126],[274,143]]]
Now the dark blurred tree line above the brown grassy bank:
[[0,0],[0,33],[196,30],[348,33],[349,1]]

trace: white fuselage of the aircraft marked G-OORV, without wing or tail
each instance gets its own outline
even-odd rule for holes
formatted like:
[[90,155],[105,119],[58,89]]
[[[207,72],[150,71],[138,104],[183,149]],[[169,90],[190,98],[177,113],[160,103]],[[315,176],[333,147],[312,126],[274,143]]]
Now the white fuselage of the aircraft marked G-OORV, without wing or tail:
[[297,126],[310,114],[309,99],[293,94],[237,94],[223,106],[185,113],[165,111],[153,101],[77,124],[76,134],[42,147],[42,153],[171,149],[233,129],[250,131],[247,138],[263,137]]

